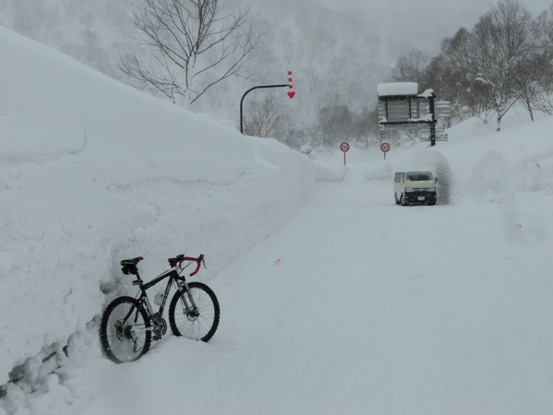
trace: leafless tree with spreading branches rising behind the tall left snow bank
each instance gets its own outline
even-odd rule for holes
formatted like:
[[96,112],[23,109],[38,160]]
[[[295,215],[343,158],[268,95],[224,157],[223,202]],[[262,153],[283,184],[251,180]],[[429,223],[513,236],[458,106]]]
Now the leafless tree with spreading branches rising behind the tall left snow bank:
[[[245,28],[248,11],[224,14],[219,0],[141,0],[133,23],[148,65],[135,51],[120,68],[137,87],[189,107],[209,88],[241,70],[260,35]],[[150,60],[149,62],[152,62]]]

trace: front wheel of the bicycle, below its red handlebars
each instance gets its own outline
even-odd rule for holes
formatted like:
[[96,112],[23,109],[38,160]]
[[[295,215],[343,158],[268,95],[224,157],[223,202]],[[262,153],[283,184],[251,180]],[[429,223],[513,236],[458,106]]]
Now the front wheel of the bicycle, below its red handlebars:
[[169,324],[175,336],[209,341],[219,325],[219,301],[201,282],[191,282],[188,290],[175,293],[169,306]]

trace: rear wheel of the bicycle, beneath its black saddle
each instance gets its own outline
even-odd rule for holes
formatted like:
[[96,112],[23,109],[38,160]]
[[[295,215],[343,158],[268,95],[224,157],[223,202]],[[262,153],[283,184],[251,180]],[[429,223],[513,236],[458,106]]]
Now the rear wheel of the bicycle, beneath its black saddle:
[[111,361],[137,360],[150,349],[151,335],[150,319],[138,300],[119,297],[106,307],[100,323],[100,343]]

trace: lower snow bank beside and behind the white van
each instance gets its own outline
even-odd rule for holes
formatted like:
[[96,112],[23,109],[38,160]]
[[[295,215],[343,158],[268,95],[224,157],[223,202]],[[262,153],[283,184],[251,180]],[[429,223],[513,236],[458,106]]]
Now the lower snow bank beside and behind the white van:
[[[529,122],[516,113],[506,118],[508,128],[496,132],[475,119],[448,131],[449,140],[435,147],[423,142],[392,148],[376,172],[430,170],[438,177],[439,203],[537,204],[553,197],[553,119]],[[517,125],[518,124],[518,125]],[[524,140],[521,141],[521,137]]]

